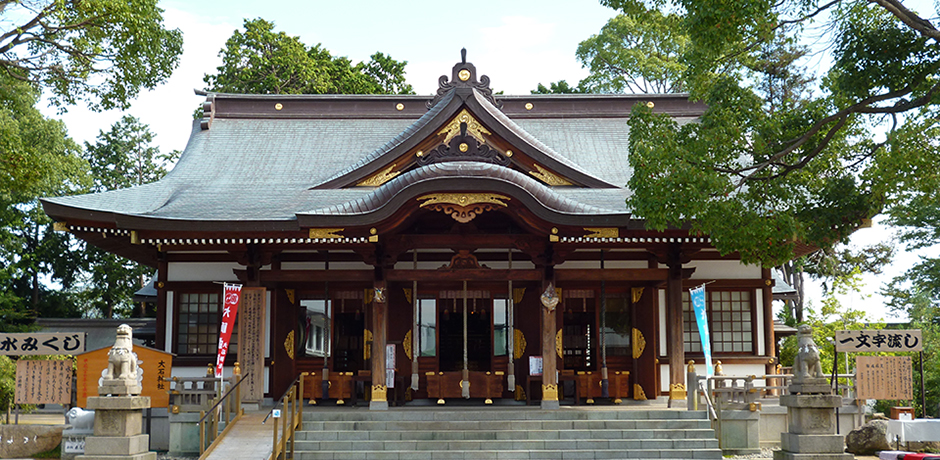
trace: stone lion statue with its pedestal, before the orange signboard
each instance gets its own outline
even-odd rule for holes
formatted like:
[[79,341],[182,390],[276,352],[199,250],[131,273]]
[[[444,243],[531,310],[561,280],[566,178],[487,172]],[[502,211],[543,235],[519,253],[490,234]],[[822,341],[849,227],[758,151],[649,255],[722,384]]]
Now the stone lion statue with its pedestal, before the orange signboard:
[[78,460],[155,460],[150,436],[143,434],[143,409],[149,396],[139,396],[141,385],[130,326],[118,326],[108,352],[108,368],[98,384],[98,395],[88,398],[95,410],[94,435],[85,438],[85,455]]

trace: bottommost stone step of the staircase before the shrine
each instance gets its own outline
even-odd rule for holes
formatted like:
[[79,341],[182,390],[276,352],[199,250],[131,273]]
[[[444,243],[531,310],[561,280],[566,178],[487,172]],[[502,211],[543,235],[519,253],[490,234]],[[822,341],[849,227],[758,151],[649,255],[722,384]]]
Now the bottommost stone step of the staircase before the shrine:
[[318,451],[295,452],[298,460],[487,460],[487,459],[601,459],[601,460],[690,460],[722,458],[721,450],[474,450],[474,451]]

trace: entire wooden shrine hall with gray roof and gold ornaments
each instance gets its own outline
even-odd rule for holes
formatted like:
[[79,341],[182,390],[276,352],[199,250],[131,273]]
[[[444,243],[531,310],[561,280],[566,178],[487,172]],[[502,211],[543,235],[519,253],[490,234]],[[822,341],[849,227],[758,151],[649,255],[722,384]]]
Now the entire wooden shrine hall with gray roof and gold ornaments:
[[[245,286],[226,361],[248,400],[408,404],[685,398],[715,359],[774,358],[768,270],[626,208],[626,121],[685,95],[496,96],[463,59],[437,94],[205,94],[175,168],[42,200],[57,228],[157,271],[157,348],[205,375],[221,282]],[[362,388],[357,395],[357,388]]]

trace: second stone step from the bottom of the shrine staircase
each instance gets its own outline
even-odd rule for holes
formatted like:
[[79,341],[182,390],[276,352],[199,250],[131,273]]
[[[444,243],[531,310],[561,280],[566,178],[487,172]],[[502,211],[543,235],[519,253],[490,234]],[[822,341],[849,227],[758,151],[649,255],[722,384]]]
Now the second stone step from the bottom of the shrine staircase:
[[717,449],[715,439],[556,439],[545,441],[298,441],[295,451],[635,451]]

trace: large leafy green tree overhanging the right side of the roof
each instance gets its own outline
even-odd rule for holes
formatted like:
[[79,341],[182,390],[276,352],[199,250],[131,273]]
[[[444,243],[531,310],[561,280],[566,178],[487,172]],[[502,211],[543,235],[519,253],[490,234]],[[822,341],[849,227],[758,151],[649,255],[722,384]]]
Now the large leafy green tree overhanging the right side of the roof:
[[[832,247],[909,202],[905,187],[940,167],[928,134],[940,32],[899,2],[603,3],[628,15],[676,11],[692,37],[680,57],[685,89],[708,107],[688,124],[634,109],[628,206],[652,228],[688,223],[723,253],[778,265],[800,244]],[[799,55],[794,44],[820,31],[832,65],[818,75],[761,64]],[[775,103],[787,81],[812,91]]]

